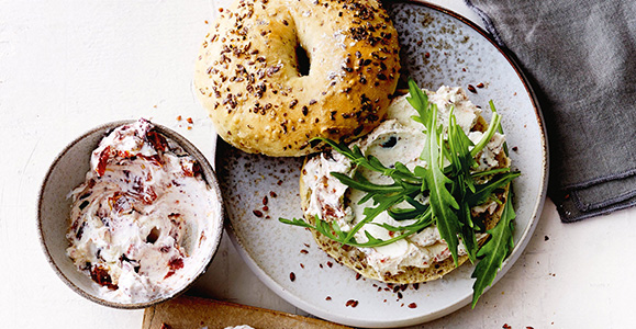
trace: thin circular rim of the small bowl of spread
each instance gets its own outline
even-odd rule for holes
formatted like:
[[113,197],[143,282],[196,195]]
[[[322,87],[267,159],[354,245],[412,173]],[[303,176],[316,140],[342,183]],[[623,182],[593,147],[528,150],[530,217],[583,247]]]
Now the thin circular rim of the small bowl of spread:
[[[156,304],[175,298],[175,297],[183,294],[186,291],[188,291],[192,286],[192,284],[199,277],[201,277],[201,275],[203,275],[205,273],[205,271],[208,270],[208,268],[212,263],[212,260],[214,259],[214,256],[216,254],[216,251],[219,250],[219,246],[220,246],[221,239],[223,237],[223,228],[225,226],[224,224],[225,224],[225,218],[226,218],[225,204],[223,202],[223,195],[221,193],[221,186],[219,185],[219,180],[216,179],[216,172],[214,171],[214,168],[210,164],[210,161],[208,160],[208,158],[190,140],[188,140],[186,137],[183,137],[179,133],[175,132],[171,128],[168,128],[168,127],[160,125],[160,124],[156,124],[156,123],[148,120],[148,122],[154,126],[155,129],[157,129],[159,133],[161,133],[163,135],[165,135],[169,139],[177,143],[180,147],[183,148],[183,150],[186,150],[186,152],[188,155],[193,157],[202,168],[204,168],[203,172],[202,172],[203,180],[205,181],[205,184],[211,190],[213,190],[215,192],[216,200],[219,202],[219,209],[220,209],[220,212],[219,212],[219,220],[220,220],[219,224],[220,225],[217,226],[216,230],[213,232],[214,241],[212,242],[212,250],[210,250],[210,252],[207,254],[205,259],[202,261],[200,269],[196,272],[197,274],[193,275],[186,285],[183,285],[179,290],[175,290],[172,293],[170,293],[166,296],[155,298],[155,299],[152,299],[148,302],[142,302],[142,303],[120,303],[120,302],[111,302],[111,300],[100,298],[96,295],[92,295],[92,294],[83,291],[82,288],[77,286],[69,277],[67,277],[64,274],[64,272],[62,271],[62,269],[58,266],[58,264],[55,262],[55,260],[53,259],[53,257],[51,254],[51,251],[49,251],[48,246],[46,243],[45,234],[44,234],[43,225],[42,225],[43,217],[44,217],[43,216],[44,214],[42,211],[42,208],[43,208],[43,195],[44,195],[44,191],[48,184],[48,180],[51,179],[51,175],[53,174],[54,169],[58,166],[59,161],[70,151],[70,149],[76,144],[78,144],[79,141],[83,140],[85,138],[87,138],[96,133],[99,133],[100,131],[103,131],[102,135],[105,136],[116,127],[120,127],[120,126],[125,125],[125,124],[135,123],[135,122],[137,122],[137,120],[121,120],[121,121],[113,121],[113,122],[109,122],[109,123],[103,123],[97,127],[93,127],[91,129],[86,131],[79,137],[72,139],[70,143],[68,143],[62,149],[62,151],[59,151],[57,154],[57,156],[55,157],[55,159],[53,160],[53,162],[48,167],[46,174],[44,175],[44,179],[42,180],[40,191],[37,193],[37,212],[36,212],[37,213],[37,215],[36,215],[37,216],[37,218],[36,218],[37,235],[38,235],[40,245],[42,247],[42,250],[44,251],[44,256],[46,258],[46,261],[48,262],[48,264],[51,265],[53,271],[57,274],[57,276],[59,279],[62,279],[62,281],[68,287],[70,287],[74,292],[76,292],[80,296],[82,296],[91,302],[94,302],[97,304],[103,305],[103,306],[109,306],[109,307],[113,307],[113,308],[121,308],[121,309],[147,308],[147,307],[154,306]],[[100,138],[100,140],[101,140],[101,138]],[[210,174],[208,174],[207,171]]]

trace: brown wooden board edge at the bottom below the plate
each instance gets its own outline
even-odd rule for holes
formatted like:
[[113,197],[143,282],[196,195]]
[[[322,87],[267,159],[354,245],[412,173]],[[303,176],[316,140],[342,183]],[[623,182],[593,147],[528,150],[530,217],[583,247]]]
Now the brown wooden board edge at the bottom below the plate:
[[143,329],[223,329],[239,325],[249,325],[256,329],[349,328],[277,310],[181,296],[146,308]]

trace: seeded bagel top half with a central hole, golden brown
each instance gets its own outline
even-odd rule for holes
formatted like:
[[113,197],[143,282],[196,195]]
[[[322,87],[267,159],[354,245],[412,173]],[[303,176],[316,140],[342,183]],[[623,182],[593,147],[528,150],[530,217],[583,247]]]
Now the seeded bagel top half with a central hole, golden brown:
[[[309,72],[299,67],[299,47]],[[376,0],[238,0],[200,50],[194,86],[219,135],[267,156],[349,141],[386,116],[398,83],[398,34]]]

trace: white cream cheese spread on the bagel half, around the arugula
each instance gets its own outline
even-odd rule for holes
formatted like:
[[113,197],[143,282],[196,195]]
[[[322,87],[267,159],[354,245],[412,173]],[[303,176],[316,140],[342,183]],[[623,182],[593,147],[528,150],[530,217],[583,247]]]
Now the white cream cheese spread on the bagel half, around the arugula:
[[[428,101],[437,104],[438,122],[448,125],[450,111],[457,118],[457,124],[464,129],[469,138],[477,143],[483,136],[480,132],[471,132],[476,125],[481,110],[477,107],[460,88],[440,87],[437,92],[426,91]],[[357,145],[362,154],[372,155],[384,166],[400,161],[409,169],[415,166],[426,167],[420,159],[424,148],[425,137],[422,131],[423,125],[411,120],[416,115],[416,111],[409,104],[406,97],[393,100],[388,110],[388,117],[375,131],[358,139]],[[495,133],[482,151],[476,156],[479,168],[476,171],[486,171],[495,168],[499,162],[496,156],[502,151],[505,138]],[[341,183],[330,172],[342,172],[353,175],[359,170],[362,175],[373,183],[390,184],[393,181],[381,175],[379,172],[369,171],[364,168],[356,169],[349,159],[343,155],[334,152],[323,152],[311,159],[304,166],[301,179],[304,185],[313,191],[309,200],[306,214],[317,215],[324,220],[336,220],[343,230],[350,230],[364,216],[365,207],[372,206],[372,201],[358,204],[365,196],[365,192],[348,189]],[[426,203],[423,197],[420,202]],[[401,206],[401,205],[399,205]],[[488,203],[472,208],[473,213],[492,212],[496,208],[496,203]],[[372,223],[389,224],[391,226],[404,226],[415,220],[397,222],[387,212],[378,215]],[[362,229],[356,232],[358,242],[367,241],[365,231],[378,239],[387,240],[393,237],[393,232],[386,228],[366,224]],[[486,235],[477,235],[478,239],[486,238]],[[360,248],[366,254],[367,263],[375,269],[378,274],[397,274],[403,272],[405,266],[428,268],[432,263],[443,261],[450,257],[445,241],[439,237],[437,227],[429,226],[409,238],[398,240],[393,243],[376,248]],[[459,245],[459,254],[466,254],[464,245]]]

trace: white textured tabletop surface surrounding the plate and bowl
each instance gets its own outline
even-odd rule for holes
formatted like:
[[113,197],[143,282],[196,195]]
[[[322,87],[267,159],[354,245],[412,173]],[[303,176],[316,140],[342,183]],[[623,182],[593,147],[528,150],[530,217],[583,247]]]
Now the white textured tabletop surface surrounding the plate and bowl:
[[[434,2],[476,19],[461,0]],[[191,76],[213,7],[0,0],[0,328],[141,328],[143,310],[96,305],[58,280],[36,234],[37,192],[57,152],[104,122],[148,117],[212,155]],[[633,328],[634,249],[636,209],[564,225],[548,201],[526,251],[477,309],[421,328]],[[303,314],[260,284],[226,238],[196,290]]]

